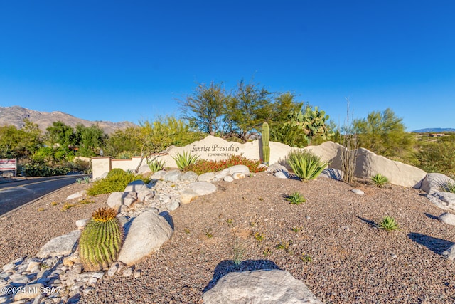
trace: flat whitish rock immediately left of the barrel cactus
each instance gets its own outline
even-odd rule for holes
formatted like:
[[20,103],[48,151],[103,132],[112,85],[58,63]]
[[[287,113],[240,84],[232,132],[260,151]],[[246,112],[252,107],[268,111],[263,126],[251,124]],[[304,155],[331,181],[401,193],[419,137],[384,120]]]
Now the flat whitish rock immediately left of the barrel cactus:
[[75,243],[80,237],[80,230],[71,231],[69,234],[58,236],[45,243],[43,247],[36,253],[38,258],[47,256],[68,256],[73,252]]

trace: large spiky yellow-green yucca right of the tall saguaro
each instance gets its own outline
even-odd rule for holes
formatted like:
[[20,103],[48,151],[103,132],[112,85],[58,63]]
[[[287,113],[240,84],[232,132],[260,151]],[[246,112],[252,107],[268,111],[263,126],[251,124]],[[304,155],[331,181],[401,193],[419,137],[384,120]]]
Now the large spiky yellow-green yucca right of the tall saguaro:
[[289,152],[287,163],[303,182],[316,179],[328,166],[328,162],[323,162],[321,157],[308,150]]

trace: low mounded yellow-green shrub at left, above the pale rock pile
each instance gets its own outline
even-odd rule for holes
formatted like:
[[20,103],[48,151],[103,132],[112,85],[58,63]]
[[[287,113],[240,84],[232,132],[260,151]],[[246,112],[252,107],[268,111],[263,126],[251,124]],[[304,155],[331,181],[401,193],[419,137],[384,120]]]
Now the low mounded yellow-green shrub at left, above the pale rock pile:
[[132,172],[124,172],[122,169],[112,169],[105,179],[97,180],[93,183],[93,186],[87,189],[88,195],[97,195],[112,192],[122,192],[130,182],[137,180],[143,180],[145,183],[149,182],[140,174],[134,174]]

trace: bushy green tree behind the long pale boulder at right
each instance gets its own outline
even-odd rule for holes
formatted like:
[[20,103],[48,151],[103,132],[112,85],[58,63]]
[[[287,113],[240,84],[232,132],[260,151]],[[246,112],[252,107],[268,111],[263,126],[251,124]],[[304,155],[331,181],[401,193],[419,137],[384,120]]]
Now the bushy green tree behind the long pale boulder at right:
[[366,118],[353,120],[353,125],[360,147],[405,162],[414,157],[414,137],[405,132],[402,118],[390,108],[370,112]]

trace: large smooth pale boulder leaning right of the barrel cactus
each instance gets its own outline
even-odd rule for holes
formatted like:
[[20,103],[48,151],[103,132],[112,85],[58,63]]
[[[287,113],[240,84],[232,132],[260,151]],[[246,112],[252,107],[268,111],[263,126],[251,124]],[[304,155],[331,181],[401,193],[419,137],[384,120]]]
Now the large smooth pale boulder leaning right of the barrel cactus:
[[163,243],[171,239],[172,232],[171,225],[156,209],[140,214],[129,226],[118,261],[127,265],[136,263],[159,250]]

